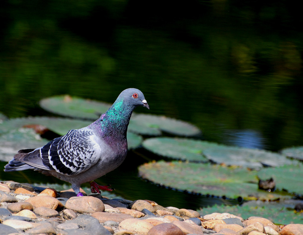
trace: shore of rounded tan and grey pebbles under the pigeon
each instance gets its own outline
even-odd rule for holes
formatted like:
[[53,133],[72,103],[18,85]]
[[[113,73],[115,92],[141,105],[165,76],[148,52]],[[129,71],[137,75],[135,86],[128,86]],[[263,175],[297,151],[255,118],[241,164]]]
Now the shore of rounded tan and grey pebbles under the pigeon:
[[[86,193],[82,190],[83,194]],[[303,224],[229,213],[200,215],[148,199],[109,199],[99,194],[0,182],[0,235],[303,235]]]

